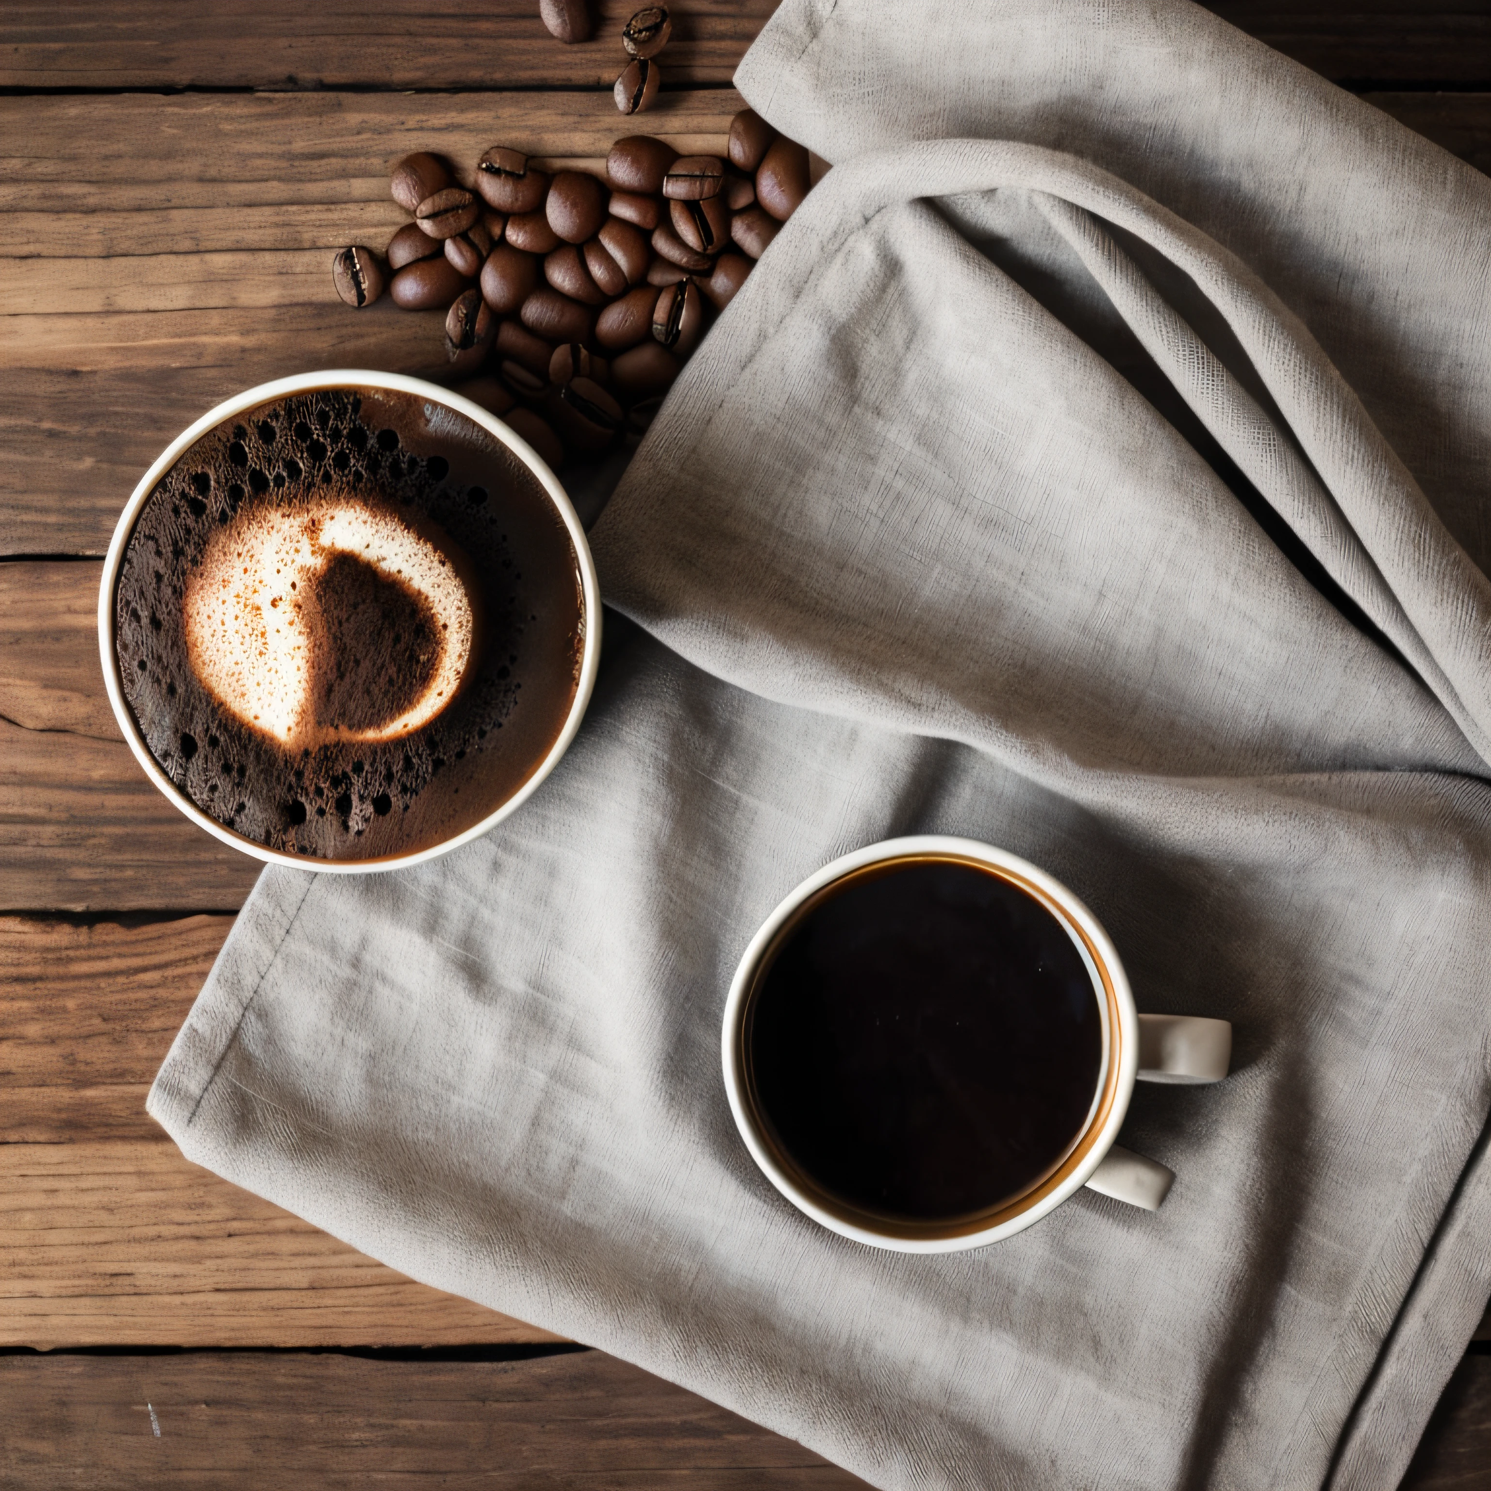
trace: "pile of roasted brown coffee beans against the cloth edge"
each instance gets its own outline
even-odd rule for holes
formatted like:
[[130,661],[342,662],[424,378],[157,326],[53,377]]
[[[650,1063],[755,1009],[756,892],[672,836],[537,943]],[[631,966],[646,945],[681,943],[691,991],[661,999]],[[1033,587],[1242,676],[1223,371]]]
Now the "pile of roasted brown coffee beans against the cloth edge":
[[438,157],[409,155],[391,191],[413,222],[383,262],[337,253],[337,294],[364,307],[386,288],[406,310],[444,309],[462,394],[552,467],[598,459],[647,428],[808,192],[808,152],[750,109],[731,121],[728,157],[634,134],[602,182],[494,146],[473,191]]

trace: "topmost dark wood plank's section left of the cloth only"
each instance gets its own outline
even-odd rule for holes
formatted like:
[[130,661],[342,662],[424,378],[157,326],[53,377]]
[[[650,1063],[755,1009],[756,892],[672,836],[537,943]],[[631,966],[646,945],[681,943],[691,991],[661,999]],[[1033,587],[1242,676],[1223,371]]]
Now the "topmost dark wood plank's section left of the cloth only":
[[[537,0],[7,0],[4,88],[610,88],[635,0],[590,0],[589,42],[564,46]],[[687,0],[659,60],[665,85],[726,83],[775,0]],[[607,103],[610,98],[607,95]],[[613,110],[614,113],[614,106]]]

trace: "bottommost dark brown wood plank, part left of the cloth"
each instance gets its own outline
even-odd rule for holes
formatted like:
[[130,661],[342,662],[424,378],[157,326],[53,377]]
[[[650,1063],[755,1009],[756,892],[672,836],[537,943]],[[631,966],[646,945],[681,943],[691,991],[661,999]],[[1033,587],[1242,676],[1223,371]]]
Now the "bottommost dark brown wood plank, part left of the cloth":
[[0,1481],[69,1487],[850,1491],[801,1445],[598,1351],[0,1360]]

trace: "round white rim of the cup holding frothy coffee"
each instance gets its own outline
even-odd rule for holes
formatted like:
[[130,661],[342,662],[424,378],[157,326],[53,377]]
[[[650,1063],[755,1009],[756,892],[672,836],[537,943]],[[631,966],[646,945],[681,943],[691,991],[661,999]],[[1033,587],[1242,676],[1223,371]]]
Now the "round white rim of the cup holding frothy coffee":
[[[256,409],[259,404],[268,404],[280,398],[288,398],[292,394],[313,394],[319,389],[334,388],[389,389],[392,392],[423,398],[426,406],[440,404],[446,409],[455,410],[458,414],[464,414],[480,429],[485,429],[495,440],[501,441],[501,444],[507,446],[513,455],[517,456],[517,459],[522,461],[529,471],[532,471],[540,486],[544,489],[549,501],[553,502],[555,511],[570,534],[570,541],[574,546],[576,562],[580,571],[580,625],[584,629],[580,677],[576,687],[574,702],[570,705],[564,729],[549,748],[549,753],[534,769],[532,775],[529,775],[528,780],[517,789],[517,792],[514,792],[505,802],[502,802],[479,823],[462,829],[459,833],[453,833],[447,839],[441,839],[438,844],[426,845],[407,854],[388,854],[382,859],[332,860],[321,859],[312,854],[286,854],[280,850],[273,850],[265,844],[259,844],[255,839],[246,838],[242,833],[234,833],[233,829],[203,813],[201,808],[198,808],[197,804],[192,802],[191,798],[188,798],[186,793],[183,793],[164,771],[161,771],[160,762],[157,762],[157,759],[151,754],[151,748],[146,746],[145,738],[134,722],[134,716],[125,704],[124,689],[119,680],[119,656],[115,647],[113,593],[119,576],[119,565],[124,559],[124,550],[130,541],[130,534],[134,531],[134,522],[139,517],[140,508],[145,505],[151,492],[155,491],[161,477],[170,471],[180,456],[197,443],[197,440],[225,420],[233,419],[236,414],[242,414],[249,409]],[[438,854],[447,854],[450,850],[458,848],[462,844],[468,844],[474,838],[480,838],[480,835],[495,828],[502,822],[502,819],[508,817],[528,798],[531,798],[544,777],[555,769],[559,757],[564,756],[565,750],[568,750],[570,743],[580,729],[580,719],[584,714],[586,705],[590,702],[590,692],[595,687],[595,674],[601,661],[601,586],[596,580],[595,561],[590,558],[590,546],[586,543],[584,528],[570,502],[568,494],[559,485],[559,479],[549,470],[543,458],[534,450],[532,446],[528,444],[526,440],[523,440],[514,429],[502,423],[501,419],[489,414],[480,404],[473,404],[471,400],[462,398],[459,394],[452,394],[449,389],[438,388],[435,383],[426,383],[423,379],[416,377],[404,377],[398,373],[374,373],[365,368],[335,368],[325,373],[300,373],[294,377],[276,379],[273,383],[259,383],[258,388],[250,388],[243,394],[236,394],[233,398],[227,400],[227,403],[209,410],[189,429],[183,429],[160,453],[160,456],[157,456],[151,470],[140,477],[139,486],[136,486],[128,504],[119,514],[119,522],[115,525],[113,541],[109,544],[109,556],[104,561],[103,579],[98,584],[98,653],[103,662],[104,687],[109,690],[109,702],[113,705],[113,714],[119,722],[119,729],[124,732],[124,738],[128,743],[130,750],[134,751],[134,759],[140,763],[145,775],[155,783],[173,807],[180,810],[198,828],[206,829],[213,838],[219,838],[224,844],[231,844],[234,848],[242,850],[245,854],[252,854],[255,859],[267,860],[271,865],[292,865],[297,869],[319,869],[328,874],[361,875],[374,871],[400,869],[407,865],[417,865],[426,859],[434,859]]]

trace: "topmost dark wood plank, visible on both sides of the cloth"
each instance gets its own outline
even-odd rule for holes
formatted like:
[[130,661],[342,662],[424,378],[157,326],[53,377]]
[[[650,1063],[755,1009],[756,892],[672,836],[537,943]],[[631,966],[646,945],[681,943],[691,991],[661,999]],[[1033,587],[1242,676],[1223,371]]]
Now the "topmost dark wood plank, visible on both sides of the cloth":
[[[12,0],[0,25],[7,88],[608,86],[634,0],[599,0],[592,40],[555,42],[534,0],[450,0],[417,19],[397,0],[245,9],[166,0]],[[728,82],[774,0],[674,6],[661,60],[672,83]],[[1491,22],[1481,0],[1211,0],[1233,25],[1334,79],[1484,82]]]

